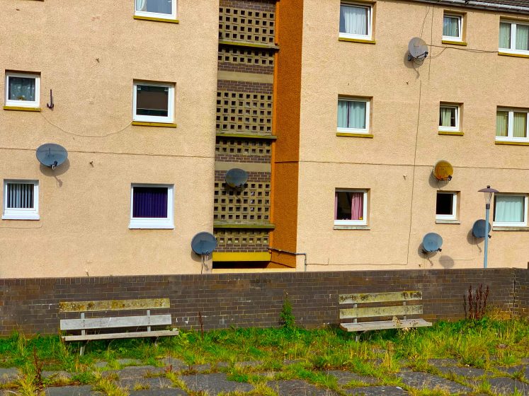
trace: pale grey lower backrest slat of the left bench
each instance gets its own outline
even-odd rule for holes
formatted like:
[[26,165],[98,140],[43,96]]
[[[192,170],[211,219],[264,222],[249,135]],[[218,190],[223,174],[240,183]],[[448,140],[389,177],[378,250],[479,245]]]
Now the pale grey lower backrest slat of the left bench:
[[62,319],[61,330],[106,329],[171,325],[171,315],[121,316],[114,318]]

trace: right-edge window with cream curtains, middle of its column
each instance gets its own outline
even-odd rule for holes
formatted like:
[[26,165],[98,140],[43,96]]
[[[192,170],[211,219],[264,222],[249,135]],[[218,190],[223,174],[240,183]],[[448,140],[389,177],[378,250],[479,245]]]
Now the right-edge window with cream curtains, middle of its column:
[[529,110],[499,108],[496,112],[496,141],[529,141]]

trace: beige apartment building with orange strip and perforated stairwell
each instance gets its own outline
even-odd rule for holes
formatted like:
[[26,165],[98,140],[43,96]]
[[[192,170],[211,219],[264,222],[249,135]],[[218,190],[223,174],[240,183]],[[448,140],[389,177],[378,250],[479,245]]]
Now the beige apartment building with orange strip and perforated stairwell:
[[527,266],[527,0],[0,6],[2,277]]

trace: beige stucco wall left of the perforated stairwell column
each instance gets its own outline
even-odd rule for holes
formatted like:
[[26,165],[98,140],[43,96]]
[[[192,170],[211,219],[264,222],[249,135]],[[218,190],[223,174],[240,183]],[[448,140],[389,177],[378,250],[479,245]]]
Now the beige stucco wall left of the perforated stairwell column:
[[[212,231],[218,1],[178,1],[178,24],[133,19],[133,0],[0,8],[2,100],[6,69],[38,71],[42,107],[0,110],[1,179],[39,180],[41,216],[0,221],[0,276],[200,272],[190,240]],[[177,128],[130,125],[135,79],[176,83]],[[69,151],[55,175],[35,158],[49,142]],[[174,184],[174,230],[128,228],[131,183]]]

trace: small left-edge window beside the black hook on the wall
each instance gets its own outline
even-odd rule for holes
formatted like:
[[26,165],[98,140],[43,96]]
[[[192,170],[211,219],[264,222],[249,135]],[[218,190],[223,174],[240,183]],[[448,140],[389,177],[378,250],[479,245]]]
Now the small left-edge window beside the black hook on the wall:
[[6,106],[38,107],[40,76],[28,73],[6,73]]

